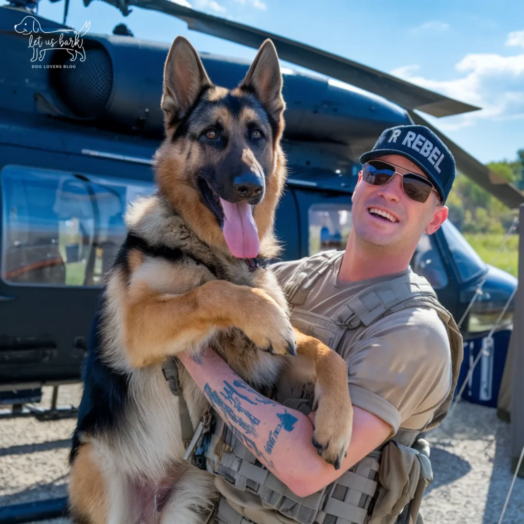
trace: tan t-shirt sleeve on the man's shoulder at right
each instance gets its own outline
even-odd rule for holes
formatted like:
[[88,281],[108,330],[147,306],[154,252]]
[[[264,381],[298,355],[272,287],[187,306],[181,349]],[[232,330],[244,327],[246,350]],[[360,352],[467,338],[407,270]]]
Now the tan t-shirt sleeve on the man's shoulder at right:
[[341,352],[352,403],[399,428],[422,429],[451,388],[446,328],[433,309],[392,313]]

